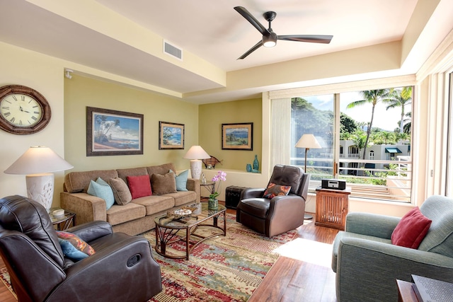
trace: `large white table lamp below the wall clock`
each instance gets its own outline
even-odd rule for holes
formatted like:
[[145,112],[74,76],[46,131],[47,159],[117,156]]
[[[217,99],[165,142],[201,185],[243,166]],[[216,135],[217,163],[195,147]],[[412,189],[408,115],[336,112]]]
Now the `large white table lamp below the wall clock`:
[[28,198],[39,202],[47,210],[52,207],[55,175],[52,172],[74,168],[52,149],[32,146],[4,173],[26,175]]

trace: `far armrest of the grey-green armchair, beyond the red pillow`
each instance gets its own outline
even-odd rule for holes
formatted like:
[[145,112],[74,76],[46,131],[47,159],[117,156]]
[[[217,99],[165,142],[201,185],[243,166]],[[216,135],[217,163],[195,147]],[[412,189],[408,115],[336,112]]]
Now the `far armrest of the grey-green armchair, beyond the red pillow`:
[[394,216],[352,212],[346,215],[345,231],[390,239],[400,220]]

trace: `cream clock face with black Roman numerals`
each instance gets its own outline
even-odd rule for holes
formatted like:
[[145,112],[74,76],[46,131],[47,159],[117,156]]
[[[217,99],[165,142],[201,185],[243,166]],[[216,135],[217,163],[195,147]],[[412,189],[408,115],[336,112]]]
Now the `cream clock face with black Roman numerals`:
[[42,118],[42,107],[30,95],[11,93],[0,101],[0,115],[16,127],[33,127]]

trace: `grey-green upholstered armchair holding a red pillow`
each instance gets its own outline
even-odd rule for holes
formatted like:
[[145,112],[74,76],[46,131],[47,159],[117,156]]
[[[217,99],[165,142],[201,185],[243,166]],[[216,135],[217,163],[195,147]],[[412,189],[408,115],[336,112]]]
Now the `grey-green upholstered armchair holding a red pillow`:
[[401,220],[350,213],[333,243],[337,301],[398,301],[396,279],[411,274],[453,282],[453,199],[432,196],[420,207],[432,220],[417,250],[391,244]]

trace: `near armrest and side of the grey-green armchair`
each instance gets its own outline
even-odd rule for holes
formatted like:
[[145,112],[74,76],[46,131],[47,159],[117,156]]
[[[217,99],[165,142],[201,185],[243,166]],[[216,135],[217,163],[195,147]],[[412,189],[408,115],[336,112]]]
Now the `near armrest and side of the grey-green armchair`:
[[343,238],[338,248],[338,301],[396,301],[396,279],[411,274],[453,282],[453,258],[360,238]]

